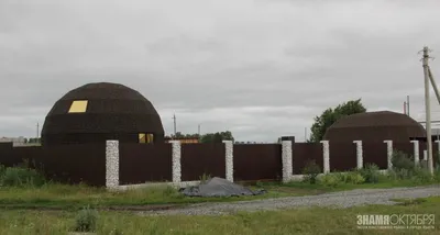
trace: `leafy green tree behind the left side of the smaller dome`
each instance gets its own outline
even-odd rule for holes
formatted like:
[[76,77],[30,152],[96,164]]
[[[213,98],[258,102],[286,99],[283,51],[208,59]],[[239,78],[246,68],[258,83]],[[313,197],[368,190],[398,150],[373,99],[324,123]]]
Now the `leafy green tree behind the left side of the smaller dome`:
[[328,127],[336,123],[342,116],[364,113],[366,112],[365,107],[362,104],[361,99],[350,100],[339,104],[337,108],[329,108],[324,110],[320,116],[315,116],[315,123],[311,125],[309,143],[317,143],[322,141],[323,135]]

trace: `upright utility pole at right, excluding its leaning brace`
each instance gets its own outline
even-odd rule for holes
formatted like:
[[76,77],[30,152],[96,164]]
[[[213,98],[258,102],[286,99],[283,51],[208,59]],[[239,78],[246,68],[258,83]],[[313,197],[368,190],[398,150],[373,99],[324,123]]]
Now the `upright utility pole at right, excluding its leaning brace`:
[[428,46],[424,47],[424,75],[425,75],[425,112],[426,112],[426,130],[427,130],[427,152],[428,152],[428,169],[430,174],[433,174],[433,165],[432,165],[432,135],[431,135],[431,102],[429,96],[429,48]]

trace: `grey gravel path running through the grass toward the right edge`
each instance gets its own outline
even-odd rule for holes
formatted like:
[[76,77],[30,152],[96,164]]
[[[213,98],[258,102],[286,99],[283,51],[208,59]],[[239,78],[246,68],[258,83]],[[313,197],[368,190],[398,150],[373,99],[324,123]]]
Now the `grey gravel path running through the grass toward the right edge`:
[[292,209],[298,206],[337,206],[351,208],[365,204],[395,204],[391,199],[416,199],[440,195],[440,186],[394,188],[394,189],[358,189],[343,192],[332,192],[319,195],[289,197],[263,199],[241,202],[200,203],[183,209],[167,211],[144,211],[141,215],[219,215],[238,211],[260,211]]

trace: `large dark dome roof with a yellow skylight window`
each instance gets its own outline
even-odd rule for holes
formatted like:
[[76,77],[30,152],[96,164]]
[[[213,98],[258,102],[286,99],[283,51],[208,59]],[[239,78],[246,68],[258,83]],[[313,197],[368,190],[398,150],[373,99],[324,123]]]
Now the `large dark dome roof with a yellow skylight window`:
[[[82,104],[85,112],[70,113],[74,101],[87,101]],[[139,133],[152,133],[155,139],[163,139],[164,128],[153,104],[123,85],[100,82],[76,88],[54,104],[43,125],[42,142],[77,143],[95,138],[130,138],[134,142]]]

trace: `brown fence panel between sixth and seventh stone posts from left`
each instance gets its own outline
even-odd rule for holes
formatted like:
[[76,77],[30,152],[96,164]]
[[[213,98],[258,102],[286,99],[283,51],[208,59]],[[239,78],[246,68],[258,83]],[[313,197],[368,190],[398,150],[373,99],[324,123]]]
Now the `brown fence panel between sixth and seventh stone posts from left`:
[[363,142],[363,165],[374,164],[380,169],[388,168],[388,158],[386,153],[386,144],[385,143],[369,143]]

